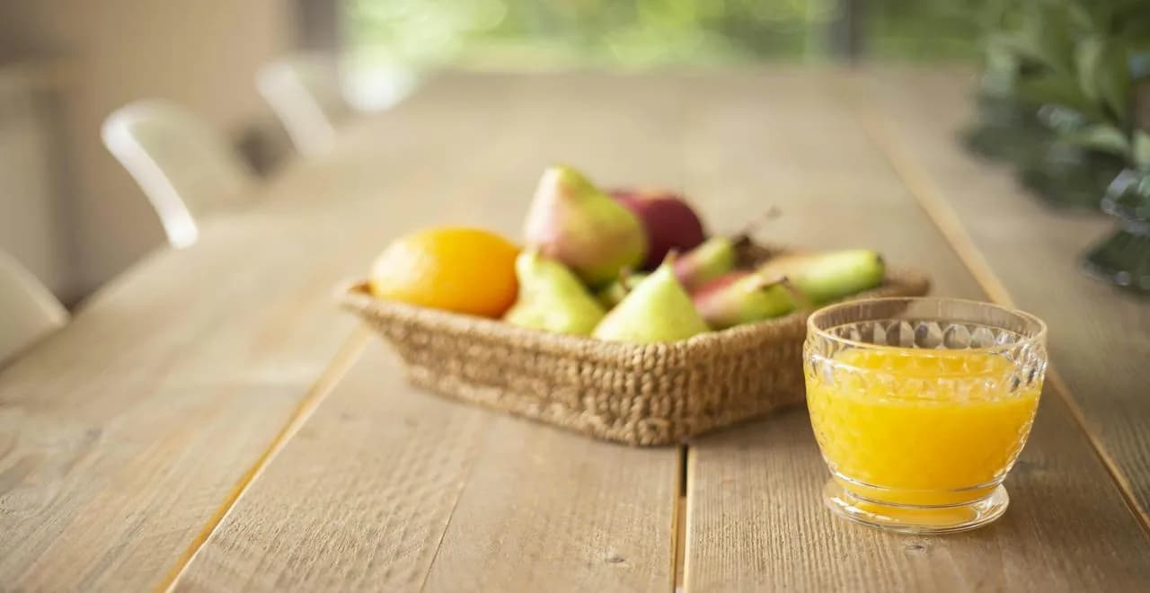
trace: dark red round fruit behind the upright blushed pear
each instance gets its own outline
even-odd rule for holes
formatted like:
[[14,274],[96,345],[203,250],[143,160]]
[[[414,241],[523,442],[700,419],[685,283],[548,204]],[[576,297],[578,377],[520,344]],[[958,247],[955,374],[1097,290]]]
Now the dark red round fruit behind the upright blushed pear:
[[659,190],[614,190],[611,194],[643,221],[647,255],[643,269],[657,268],[672,249],[685,253],[706,239],[703,222],[683,198]]

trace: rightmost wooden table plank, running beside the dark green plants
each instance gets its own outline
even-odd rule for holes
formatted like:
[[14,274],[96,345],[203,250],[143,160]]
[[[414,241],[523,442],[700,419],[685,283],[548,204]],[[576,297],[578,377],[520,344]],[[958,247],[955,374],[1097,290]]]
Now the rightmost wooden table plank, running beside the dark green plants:
[[[974,117],[973,77],[880,71],[866,82],[857,86],[861,108],[871,106],[873,132],[914,193],[943,224],[965,230],[956,245],[983,262],[980,276],[1051,322],[1051,362],[1072,409],[1150,525],[1150,305],[1079,269],[1113,220],[1052,210],[1007,165],[965,152],[956,136]],[[892,91],[908,84],[913,98]]]

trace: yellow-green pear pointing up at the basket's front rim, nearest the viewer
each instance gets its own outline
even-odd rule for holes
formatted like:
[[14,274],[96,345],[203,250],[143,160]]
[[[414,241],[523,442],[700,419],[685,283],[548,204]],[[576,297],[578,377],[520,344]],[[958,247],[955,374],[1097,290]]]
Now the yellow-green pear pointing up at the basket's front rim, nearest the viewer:
[[599,322],[592,336],[651,344],[685,340],[711,330],[675,278],[673,254]]

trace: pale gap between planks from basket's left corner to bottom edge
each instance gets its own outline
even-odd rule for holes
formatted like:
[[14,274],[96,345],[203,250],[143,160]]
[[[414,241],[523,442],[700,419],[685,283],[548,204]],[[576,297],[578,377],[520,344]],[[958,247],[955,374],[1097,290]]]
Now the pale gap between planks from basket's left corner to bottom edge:
[[320,377],[308,390],[307,394],[300,400],[299,405],[289,416],[288,422],[284,424],[283,429],[276,433],[268,447],[255,459],[255,462],[248,468],[247,471],[240,476],[236,485],[232,486],[228,496],[224,498],[220,507],[212,514],[208,522],[204,524],[204,529],[197,533],[195,538],[192,539],[191,544],[184,549],[184,553],[179,555],[175,565],[168,571],[168,575],[163,580],[156,585],[156,592],[171,592],[175,590],[176,583],[179,582],[179,577],[183,576],[184,571],[191,565],[192,561],[195,560],[195,555],[200,552],[212,533],[215,532],[223,519],[228,516],[239,499],[247,492],[253,483],[263,473],[263,470],[271,463],[275,456],[284,448],[284,446],[299,432],[299,429],[307,423],[307,419],[312,417],[312,414],[320,407],[320,403],[327,399],[328,394],[331,393],[339,379],[343,378],[347,370],[352,368],[363,349],[367,347],[368,339],[371,336],[370,331],[360,325],[352,332],[352,336],[347,338],[347,341],[336,352],[336,355],[331,359],[331,363],[323,370]]

